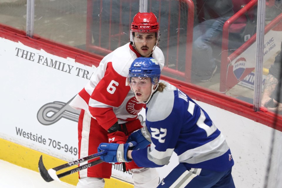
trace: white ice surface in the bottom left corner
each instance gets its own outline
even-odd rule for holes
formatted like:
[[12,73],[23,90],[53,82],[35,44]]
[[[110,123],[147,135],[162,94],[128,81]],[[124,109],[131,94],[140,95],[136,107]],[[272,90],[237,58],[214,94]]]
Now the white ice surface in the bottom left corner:
[[75,188],[64,182],[45,182],[39,172],[0,160],[1,188]]

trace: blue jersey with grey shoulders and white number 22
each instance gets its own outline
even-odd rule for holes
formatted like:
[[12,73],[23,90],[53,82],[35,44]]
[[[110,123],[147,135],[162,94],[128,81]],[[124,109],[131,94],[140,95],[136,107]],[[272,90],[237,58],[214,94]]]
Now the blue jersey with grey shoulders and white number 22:
[[234,165],[224,136],[209,115],[175,86],[156,92],[146,106],[150,147],[132,152],[140,167],[161,167],[173,151],[187,168],[224,171]]

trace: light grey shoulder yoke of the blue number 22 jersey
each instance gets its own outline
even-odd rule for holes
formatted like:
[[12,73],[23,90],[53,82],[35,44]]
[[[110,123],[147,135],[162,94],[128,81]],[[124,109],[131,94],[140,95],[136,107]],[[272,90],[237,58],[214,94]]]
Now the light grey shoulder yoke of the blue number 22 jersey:
[[166,119],[171,114],[174,106],[174,91],[177,88],[168,82],[162,80],[160,82],[164,83],[166,88],[162,92],[155,93],[147,104],[146,119],[150,122]]

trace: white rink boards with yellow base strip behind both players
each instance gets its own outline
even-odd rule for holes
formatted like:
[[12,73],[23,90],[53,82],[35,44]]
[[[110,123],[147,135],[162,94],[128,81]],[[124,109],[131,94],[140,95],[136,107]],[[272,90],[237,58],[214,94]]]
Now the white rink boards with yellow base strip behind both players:
[[[0,30],[0,44],[1,106],[5,109],[0,118],[0,144],[4,146],[0,158],[35,171],[40,155],[50,168],[77,159],[79,111],[68,103],[88,82],[95,66],[78,61],[77,54],[67,49],[4,29]],[[282,141],[281,132],[228,109],[197,103],[226,137],[235,161],[232,175],[236,186],[263,187],[272,146],[276,149],[272,161],[279,164],[281,146],[276,143]],[[144,111],[140,115],[144,120]],[[158,169],[161,178],[177,165],[177,156],[170,161]],[[271,171],[273,178],[277,175],[275,168]],[[76,173],[65,181],[76,184],[77,177]],[[113,177],[132,182],[130,174],[114,165]],[[113,183],[109,187],[132,187],[127,183],[120,186],[113,178],[109,182]]]

